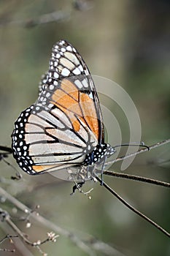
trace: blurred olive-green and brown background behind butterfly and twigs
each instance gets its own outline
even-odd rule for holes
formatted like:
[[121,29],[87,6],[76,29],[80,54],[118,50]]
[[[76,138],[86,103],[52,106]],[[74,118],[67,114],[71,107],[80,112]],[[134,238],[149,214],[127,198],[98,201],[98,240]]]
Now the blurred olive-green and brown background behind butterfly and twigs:
[[[169,8],[167,0],[0,1],[0,145],[11,145],[15,119],[35,102],[39,79],[47,70],[51,48],[59,39],[72,42],[92,74],[114,80],[128,92],[139,111],[142,140],[147,145],[169,138]],[[107,105],[104,101],[101,97],[101,104]],[[109,108],[115,111],[122,129],[126,127],[114,105]],[[114,127],[112,131],[114,139]],[[123,142],[128,141],[128,136],[129,131],[124,128]],[[9,162],[19,168],[12,157]],[[119,171],[120,165],[114,165],[112,170]],[[30,208],[39,204],[40,214],[66,230],[82,238],[91,235],[127,256],[170,255],[169,238],[125,208],[99,184],[85,184],[85,191],[94,188],[92,199],[88,200],[78,192],[71,197],[70,182],[49,174],[28,176],[20,172],[23,179],[11,181],[12,168],[1,162],[1,177],[8,181],[1,186]],[[125,172],[169,181],[169,145],[136,157]],[[110,177],[104,177],[104,181],[170,230],[169,189]],[[10,212],[13,206],[3,202],[1,207]],[[1,225],[3,238],[10,230]],[[45,238],[50,231],[36,223],[30,229],[22,222],[17,225],[33,241]],[[15,244],[6,242],[0,246],[14,248]],[[36,249],[27,248],[31,255],[40,255]],[[18,256],[29,255],[20,246],[15,249]],[[45,244],[42,249],[48,255],[87,255],[63,236],[56,244]],[[96,251],[96,255],[104,252]]]

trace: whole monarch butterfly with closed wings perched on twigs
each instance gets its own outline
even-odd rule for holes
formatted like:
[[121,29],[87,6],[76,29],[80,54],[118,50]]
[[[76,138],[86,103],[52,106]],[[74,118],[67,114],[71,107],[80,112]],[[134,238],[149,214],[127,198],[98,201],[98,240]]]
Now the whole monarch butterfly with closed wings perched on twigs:
[[69,42],[60,40],[53,46],[39,98],[15,121],[12,149],[18,165],[31,175],[93,166],[115,153],[104,143],[93,79]]

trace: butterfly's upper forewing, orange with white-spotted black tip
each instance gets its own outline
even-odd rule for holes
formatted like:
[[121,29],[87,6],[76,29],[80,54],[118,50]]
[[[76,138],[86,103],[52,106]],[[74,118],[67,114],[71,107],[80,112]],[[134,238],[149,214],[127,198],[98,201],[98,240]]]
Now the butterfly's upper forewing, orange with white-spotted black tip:
[[53,46],[48,75],[45,75],[46,83],[43,79],[44,91],[54,94],[52,101],[58,107],[60,102],[63,109],[68,108],[67,113],[72,116],[75,130],[79,129],[79,124],[71,112],[88,124],[99,144],[104,143],[103,118],[96,88],[85,61],[71,44],[61,40]]

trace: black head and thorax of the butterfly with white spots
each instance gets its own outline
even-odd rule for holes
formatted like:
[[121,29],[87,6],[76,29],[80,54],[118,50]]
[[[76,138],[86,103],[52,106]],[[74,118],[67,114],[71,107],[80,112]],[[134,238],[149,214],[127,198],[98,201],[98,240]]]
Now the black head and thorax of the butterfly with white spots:
[[108,143],[98,144],[89,154],[86,154],[84,165],[94,165],[96,162],[100,163],[104,157],[110,157],[115,153],[115,148]]

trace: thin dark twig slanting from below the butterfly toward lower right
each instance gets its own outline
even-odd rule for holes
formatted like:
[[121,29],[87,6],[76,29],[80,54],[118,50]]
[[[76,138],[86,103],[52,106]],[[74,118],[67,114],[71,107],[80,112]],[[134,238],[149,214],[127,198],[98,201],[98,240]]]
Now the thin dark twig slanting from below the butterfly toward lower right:
[[101,178],[99,178],[96,175],[96,179],[102,184],[103,186],[109,190],[109,192],[112,193],[112,195],[115,195],[115,197],[117,197],[118,200],[120,200],[120,202],[122,202],[126,207],[128,207],[129,209],[131,209],[131,211],[134,211],[134,213],[136,213],[137,215],[139,215],[140,217],[142,217],[143,219],[146,219],[147,222],[150,222],[150,224],[152,224],[153,226],[155,226],[156,228],[158,228],[158,230],[161,230],[162,233],[164,233],[166,236],[170,237],[170,233],[166,230],[163,229],[163,227],[161,227],[160,225],[158,225],[157,223],[155,223],[154,221],[152,221],[152,219],[150,219],[149,217],[147,217],[146,215],[142,214],[142,212],[140,212],[139,210],[137,210],[136,208],[134,208],[134,206],[131,206],[128,202],[126,202],[123,197],[120,197],[120,195],[117,194],[117,192],[115,192],[115,190],[113,190],[111,187],[109,187],[104,181],[101,181]]

